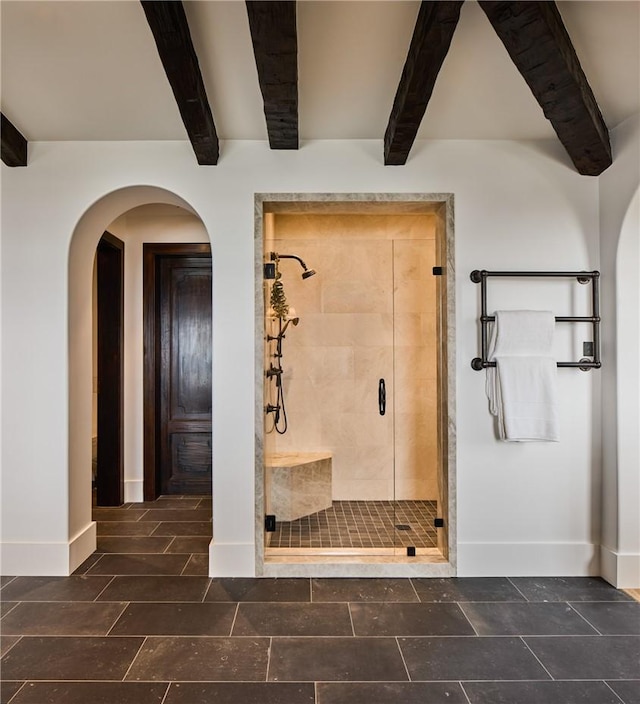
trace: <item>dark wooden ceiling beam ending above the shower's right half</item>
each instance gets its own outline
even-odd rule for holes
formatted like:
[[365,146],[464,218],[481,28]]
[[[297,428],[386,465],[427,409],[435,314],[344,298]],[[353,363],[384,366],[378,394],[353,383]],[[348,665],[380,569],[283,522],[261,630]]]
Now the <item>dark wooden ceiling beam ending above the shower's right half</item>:
[[436,78],[449,51],[463,1],[420,3],[384,135],[384,163],[387,165],[398,166],[407,162]]

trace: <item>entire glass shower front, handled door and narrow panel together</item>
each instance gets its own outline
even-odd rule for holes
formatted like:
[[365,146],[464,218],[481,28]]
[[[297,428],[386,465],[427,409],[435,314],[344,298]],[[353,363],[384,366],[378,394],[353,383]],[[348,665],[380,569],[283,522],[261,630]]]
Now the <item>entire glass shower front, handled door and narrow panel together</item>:
[[265,420],[267,558],[437,547],[435,239],[362,232],[270,245],[318,274],[283,275],[299,321],[280,345],[265,322],[265,402],[280,384],[287,413],[285,433]]

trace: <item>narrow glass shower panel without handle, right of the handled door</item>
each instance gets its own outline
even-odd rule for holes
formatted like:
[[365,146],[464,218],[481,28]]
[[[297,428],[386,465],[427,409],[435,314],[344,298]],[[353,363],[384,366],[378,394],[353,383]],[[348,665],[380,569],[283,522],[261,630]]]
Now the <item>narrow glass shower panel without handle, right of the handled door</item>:
[[435,239],[393,242],[397,555],[438,553],[438,311]]

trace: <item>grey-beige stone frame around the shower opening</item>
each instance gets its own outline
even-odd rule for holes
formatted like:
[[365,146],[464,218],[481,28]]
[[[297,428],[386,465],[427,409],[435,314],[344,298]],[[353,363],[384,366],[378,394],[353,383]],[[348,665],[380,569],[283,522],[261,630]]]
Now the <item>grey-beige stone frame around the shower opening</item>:
[[[440,335],[446,341],[439,384],[441,388],[440,448],[446,484],[442,515],[448,530],[442,541],[443,557],[321,556],[265,558],[264,548],[264,220],[265,213],[436,213],[440,246],[446,247],[446,275],[441,280]],[[455,477],[455,269],[453,195],[446,193],[260,193],[255,196],[256,273],[256,575],[257,576],[433,576],[456,574],[456,477]],[[444,257],[440,258],[443,261]]]

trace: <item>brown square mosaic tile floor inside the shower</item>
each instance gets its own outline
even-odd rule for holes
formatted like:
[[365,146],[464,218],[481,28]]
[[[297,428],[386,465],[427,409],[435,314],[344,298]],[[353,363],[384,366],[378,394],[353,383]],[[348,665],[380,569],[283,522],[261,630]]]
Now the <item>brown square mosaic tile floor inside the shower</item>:
[[435,501],[334,501],[324,511],[277,521],[269,547],[435,548],[436,506]]

